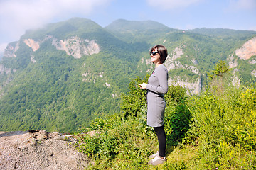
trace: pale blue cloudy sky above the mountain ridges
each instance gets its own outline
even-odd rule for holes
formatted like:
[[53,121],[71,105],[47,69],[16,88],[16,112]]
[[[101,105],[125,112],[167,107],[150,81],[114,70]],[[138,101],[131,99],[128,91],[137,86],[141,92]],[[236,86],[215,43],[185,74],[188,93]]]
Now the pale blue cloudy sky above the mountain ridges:
[[256,0],[0,0],[0,54],[26,30],[73,17],[102,27],[125,19],[181,30],[256,30]]

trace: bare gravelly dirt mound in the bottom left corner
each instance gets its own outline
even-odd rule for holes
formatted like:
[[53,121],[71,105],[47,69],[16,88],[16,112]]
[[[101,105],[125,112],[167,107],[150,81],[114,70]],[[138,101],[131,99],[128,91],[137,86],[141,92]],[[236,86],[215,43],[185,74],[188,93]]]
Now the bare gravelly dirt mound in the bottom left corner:
[[68,147],[73,139],[57,132],[0,132],[0,169],[86,169],[85,154]]

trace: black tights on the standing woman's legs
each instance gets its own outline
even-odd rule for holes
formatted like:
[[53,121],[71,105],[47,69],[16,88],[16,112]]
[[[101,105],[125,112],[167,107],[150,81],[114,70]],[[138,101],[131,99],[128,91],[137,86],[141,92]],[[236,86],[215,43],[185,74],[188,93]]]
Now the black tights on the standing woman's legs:
[[166,134],[164,132],[164,125],[160,127],[154,127],[157,139],[159,141],[159,156],[165,157],[166,154]]

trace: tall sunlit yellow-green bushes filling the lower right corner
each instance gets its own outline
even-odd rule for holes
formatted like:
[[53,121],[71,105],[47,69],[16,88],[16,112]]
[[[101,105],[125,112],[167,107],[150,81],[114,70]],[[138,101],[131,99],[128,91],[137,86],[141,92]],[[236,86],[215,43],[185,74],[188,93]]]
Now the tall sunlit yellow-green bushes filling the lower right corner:
[[255,86],[224,86],[191,98],[186,142],[198,148],[200,169],[255,169]]

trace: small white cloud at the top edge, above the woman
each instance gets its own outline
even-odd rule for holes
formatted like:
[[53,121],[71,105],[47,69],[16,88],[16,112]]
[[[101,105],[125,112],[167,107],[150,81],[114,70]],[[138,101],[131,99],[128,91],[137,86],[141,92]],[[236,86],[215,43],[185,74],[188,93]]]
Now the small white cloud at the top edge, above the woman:
[[192,4],[197,4],[202,0],[146,0],[150,6],[157,6],[164,10],[175,8],[186,8]]

